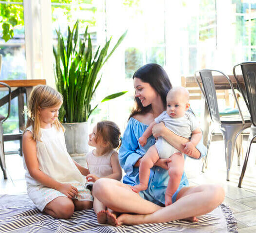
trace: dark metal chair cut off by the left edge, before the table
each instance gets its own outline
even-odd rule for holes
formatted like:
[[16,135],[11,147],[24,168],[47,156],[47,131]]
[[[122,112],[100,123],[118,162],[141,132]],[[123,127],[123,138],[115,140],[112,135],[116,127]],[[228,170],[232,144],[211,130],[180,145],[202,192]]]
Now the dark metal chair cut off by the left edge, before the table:
[[[0,55],[0,73],[1,73],[1,59],[2,55]],[[3,171],[3,178],[7,179],[7,174],[6,174],[6,165],[5,165],[5,158],[4,158],[4,148],[3,148],[3,127],[2,123],[9,117],[10,115],[10,110],[11,110],[11,88],[8,84],[0,82],[0,85],[5,86],[9,90],[8,94],[8,114],[6,117],[0,115],[0,167]]]

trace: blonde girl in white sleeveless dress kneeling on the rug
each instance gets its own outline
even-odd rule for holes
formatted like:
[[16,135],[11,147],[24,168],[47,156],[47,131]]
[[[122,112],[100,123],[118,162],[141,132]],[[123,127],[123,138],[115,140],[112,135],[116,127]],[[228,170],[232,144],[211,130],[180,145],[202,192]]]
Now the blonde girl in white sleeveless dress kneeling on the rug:
[[88,175],[88,169],[67,152],[64,128],[58,120],[62,102],[53,88],[34,88],[22,143],[28,196],[41,212],[67,219],[74,210],[91,208],[93,197],[82,176]]

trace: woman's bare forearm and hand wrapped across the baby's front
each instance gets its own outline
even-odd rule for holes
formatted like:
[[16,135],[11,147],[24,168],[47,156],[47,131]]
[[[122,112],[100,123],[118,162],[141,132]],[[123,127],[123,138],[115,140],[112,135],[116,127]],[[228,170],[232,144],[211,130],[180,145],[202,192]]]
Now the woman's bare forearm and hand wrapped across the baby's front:
[[[177,134],[166,128],[163,122],[153,127],[152,134],[155,138],[162,136],[168,143],[170,143],[172,146],[174,146],[176,149],[182,152],[185,147],[184,143],[189,142],[188,139],[178,136]],[[195,148],[192,154],[190,155],[190,157],[195,159],[199,159],[200,156],[201,153],[197,148]]]

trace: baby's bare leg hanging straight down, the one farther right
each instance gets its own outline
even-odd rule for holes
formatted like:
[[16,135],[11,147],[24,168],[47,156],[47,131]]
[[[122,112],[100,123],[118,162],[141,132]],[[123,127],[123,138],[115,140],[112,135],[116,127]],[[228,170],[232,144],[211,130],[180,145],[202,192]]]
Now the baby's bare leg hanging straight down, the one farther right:
[[184,170],[184,156],[181,153],[175,153],[170,158],[171,161],[168,162],[170,179],[165,192],[165,206],[172,204],[171,198],[180,185]]

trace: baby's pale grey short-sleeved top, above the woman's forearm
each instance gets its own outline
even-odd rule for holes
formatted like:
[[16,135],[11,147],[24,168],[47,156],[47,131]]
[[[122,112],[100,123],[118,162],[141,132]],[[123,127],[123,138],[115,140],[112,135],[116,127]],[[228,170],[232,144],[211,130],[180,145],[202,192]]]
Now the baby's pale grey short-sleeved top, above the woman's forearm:
[[199,123],[196,117],[188,111],[185,112],[183,117],[179,118],[172,118],[166,111],[163,111],[157,118],[155,118],[155,122],[157,124],[164,122],[165,126],[172,132],[187,139],[190,138],[192,131],[199,128]]

